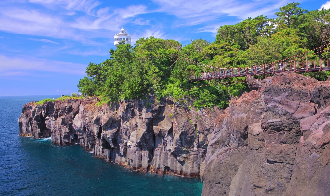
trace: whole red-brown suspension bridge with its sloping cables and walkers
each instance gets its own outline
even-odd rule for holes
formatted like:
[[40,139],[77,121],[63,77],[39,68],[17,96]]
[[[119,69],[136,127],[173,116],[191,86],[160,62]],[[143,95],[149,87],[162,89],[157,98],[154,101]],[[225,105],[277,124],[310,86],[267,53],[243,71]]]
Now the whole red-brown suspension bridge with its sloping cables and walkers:
[[[185,61],[191,64],[195,64],[196,66],[199,66],[201,70],[203,69],[205,70],[204,72],[202,71],[201,73],[197,73],[196,75],[191,76],[190,81],[192,82],[248,76],[248,75],[274,74],[274,73],[285,72],[288,70],[296,73],[330,71],[330,66],[329,66],[330,58],[327,59],[320,58],[321,52],[325,50],[325,49],[321,50],[322,47],[311,50],[314,51],[314,53],[308,51],[281,61],[263,64],[263,65],[254,65],[244,68],[220,68],[220,67],[205,65],[188,58],[186,58]],[[317,49],[319,49],[319,51],[316,51]],[[307,55],[307,53],[309,54]],[[317,60],[309,60],[308,57],[312,57],[312,55],[314,55],[313,56],[314,59],[318,56],[319,58]]]

